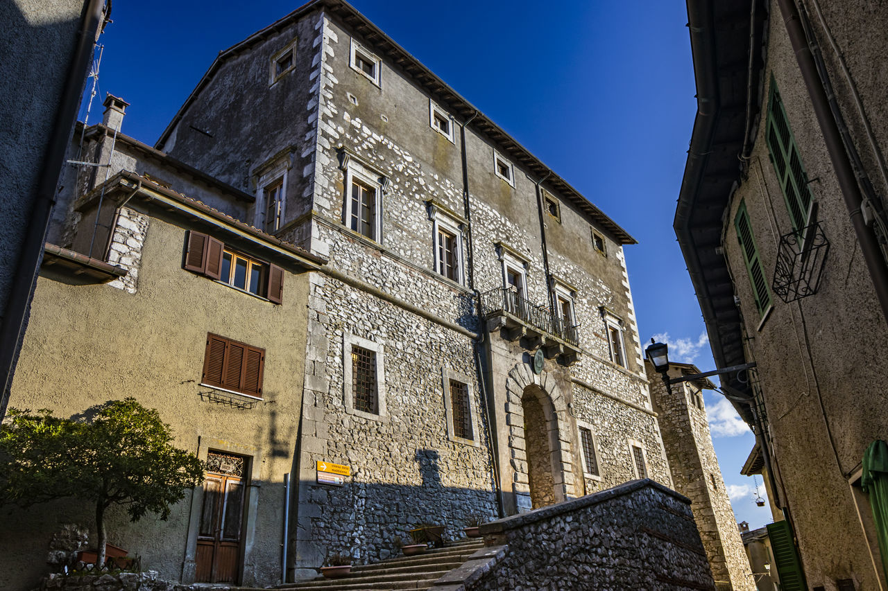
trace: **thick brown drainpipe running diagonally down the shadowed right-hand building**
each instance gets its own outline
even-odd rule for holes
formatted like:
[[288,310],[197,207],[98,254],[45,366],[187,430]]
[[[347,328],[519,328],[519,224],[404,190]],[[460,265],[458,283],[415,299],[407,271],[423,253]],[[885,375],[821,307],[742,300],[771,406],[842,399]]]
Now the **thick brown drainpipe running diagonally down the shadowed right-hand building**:
[[796,3],[794,0],[777,0],[777,4],[780,5],[783,22],[786,25],[792,49],[796,53],[798,67],[805,80],[805,87],[811,98],[814,114],[817,115],[817,121],[820,123],[829,159],[833,168],[836,169],[836,179],[844,197],[845,207],[848,208],[854,233],[860,243],[860,252],[867,264],[873,287],[876,289],[876,298],[882,306],[885,320],[888,321],[888,268],[885,267],[876,236],[870,232],[863,218],[861,211],[863,198],[860,194],[860,186],[854,176],[851,159],[845,152],[842,133],[835,116],[830,111],[830,101],[824,89],[824,81],[817,70],[817,62],[809,47]]

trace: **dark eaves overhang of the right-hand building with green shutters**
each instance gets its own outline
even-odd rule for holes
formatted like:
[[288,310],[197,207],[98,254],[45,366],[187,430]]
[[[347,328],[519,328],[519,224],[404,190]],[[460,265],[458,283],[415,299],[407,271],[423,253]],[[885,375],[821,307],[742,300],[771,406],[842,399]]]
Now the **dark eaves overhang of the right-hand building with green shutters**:
[[[760,108],[767,5],[762,0],[687,0],[687,16],[697,114],[673,227],[716,365],[736,366],[748,359],[722,240],[725,213],[741,183],[741,154]],[[751,394],[749,383],[736,374],[720,379]],[[733,405],[752,424],[749,406]]]

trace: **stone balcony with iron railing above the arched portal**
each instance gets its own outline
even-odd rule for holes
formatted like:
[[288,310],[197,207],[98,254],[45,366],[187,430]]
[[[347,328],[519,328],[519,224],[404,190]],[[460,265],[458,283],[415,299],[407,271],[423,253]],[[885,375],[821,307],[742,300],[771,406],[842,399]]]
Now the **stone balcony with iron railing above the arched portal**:
[[530,302],[514,289],[496,288],[481,294],[480,311],[488,330],[502,328],[510,341],[526,339],[529,349],[542,347],[547,358],[561,357],[567,366],[579,359],[579,325],[568,326],[548,304]]

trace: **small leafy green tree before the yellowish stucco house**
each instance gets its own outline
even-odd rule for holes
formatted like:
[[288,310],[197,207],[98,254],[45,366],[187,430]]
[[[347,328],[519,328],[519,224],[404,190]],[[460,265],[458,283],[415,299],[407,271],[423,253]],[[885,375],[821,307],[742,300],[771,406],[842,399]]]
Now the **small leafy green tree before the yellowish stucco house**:
[[99,558],[105,563],[105,510],[126,507],[133,522],[203,482],[203,462],[172,445],[170,425],[135,398],[98,406],[91,419],[10,409],[0,427],[0,504],[29,507],[75,496],[95,503]]

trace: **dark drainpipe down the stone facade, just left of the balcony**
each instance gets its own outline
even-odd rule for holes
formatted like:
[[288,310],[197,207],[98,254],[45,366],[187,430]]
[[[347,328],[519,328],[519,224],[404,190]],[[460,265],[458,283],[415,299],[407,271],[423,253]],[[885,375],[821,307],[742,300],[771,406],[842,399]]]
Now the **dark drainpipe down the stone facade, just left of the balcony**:
[[[478,111],[475,111],[469,119],[460,124],[459,130],[459,143],[460,143],[460,157],[462,159],[463,164],[463,211],[466,222],[468,222],[466,227],[466,248],[465,248],[465,256],[466,256],[466,267],[468,272],[466,273],[466,279],[468,280],[469,289],[472,290],[472,293],[475,298],[476,309],[480,312],[480,293],[477,289],[475,289],[475,258],[474,258],[474,241],[472,240],[472,208],[470,206],[469,201],[469,163],[466,159],[465,155],[465,128],[472,122],[472,120],[478,116]],[[487,373],[484,371],[484,366],[481,362],[481,350],[483,347],[484,339],[488,333],[487,323],[484,322],[483,319],[480,318],[479,314],[479,322],[483,325],[483,330],[478,331],[478,338],[472,340],[472,351],[474,352],[475,358],[475,371],[478,374],[478,385],[480,388],[480,397],[484,402],[484,414],[488,423],[488,453],[490,453],[490,461],[493,466],[493,474],[492,480],[494,485],[494,496],[496,498],[496,516],[502,518],[505,516],[505,511],[503,509],[503,490],[500,488],[500,469],[499,469],[499,455],[496,453],[496,445],[494,445],[494,421],[493,414],[490,412],[490,400],[488,399],[488,386],[487,386]]]

